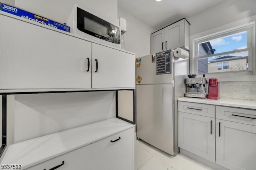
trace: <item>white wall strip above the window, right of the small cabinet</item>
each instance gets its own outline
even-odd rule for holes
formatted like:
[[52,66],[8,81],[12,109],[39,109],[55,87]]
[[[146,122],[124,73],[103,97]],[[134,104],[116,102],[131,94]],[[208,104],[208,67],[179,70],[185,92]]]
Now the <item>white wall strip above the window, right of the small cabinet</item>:
[[188,17],[190,36],[256,15],[256,0],[227,0]]

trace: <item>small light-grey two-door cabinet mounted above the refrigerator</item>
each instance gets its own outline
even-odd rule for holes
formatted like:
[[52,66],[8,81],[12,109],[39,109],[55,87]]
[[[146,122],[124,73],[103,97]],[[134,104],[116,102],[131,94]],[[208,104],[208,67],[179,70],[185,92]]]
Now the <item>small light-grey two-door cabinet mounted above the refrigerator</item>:
[[189,50],[190,24],[184,18],[150,35],[150,53],[181,47]]

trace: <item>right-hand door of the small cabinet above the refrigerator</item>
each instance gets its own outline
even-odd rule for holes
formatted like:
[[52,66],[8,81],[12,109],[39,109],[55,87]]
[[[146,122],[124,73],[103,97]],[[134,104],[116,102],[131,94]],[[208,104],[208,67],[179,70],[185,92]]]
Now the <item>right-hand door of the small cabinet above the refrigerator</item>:
[[184,47],[185,19],[165,28],[165,40],[167,49]]

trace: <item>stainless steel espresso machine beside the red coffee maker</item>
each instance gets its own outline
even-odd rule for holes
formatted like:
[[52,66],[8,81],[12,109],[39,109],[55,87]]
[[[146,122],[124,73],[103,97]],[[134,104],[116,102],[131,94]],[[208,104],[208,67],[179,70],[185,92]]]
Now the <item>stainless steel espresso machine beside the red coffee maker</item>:
[[188,75],[185,79],[186,93],[185,97],[206,98],[208,96],[208,78]]

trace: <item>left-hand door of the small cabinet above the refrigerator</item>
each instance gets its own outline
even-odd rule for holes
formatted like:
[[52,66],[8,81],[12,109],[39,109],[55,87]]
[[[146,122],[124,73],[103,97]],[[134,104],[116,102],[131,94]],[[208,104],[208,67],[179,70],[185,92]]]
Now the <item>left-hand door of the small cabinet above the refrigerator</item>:
[[150,35],[150,53],[157,53],[165,49],[164,29]]

